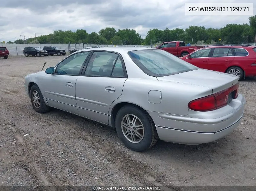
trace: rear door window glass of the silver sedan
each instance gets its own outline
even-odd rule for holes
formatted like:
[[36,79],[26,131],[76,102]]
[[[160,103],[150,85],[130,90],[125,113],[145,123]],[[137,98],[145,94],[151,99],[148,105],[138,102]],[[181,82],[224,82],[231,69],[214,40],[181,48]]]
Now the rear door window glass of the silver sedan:
[[[94,52],[86,67],[85,75],[88,75],[88,76],[112,76],[112,74],[120,75],[120,72],[119,72],[120,65],[117,59],[118,59],[118,54],[115,54],[115,53]],[[115,64],[117,64],[116,68],[115,68]]]

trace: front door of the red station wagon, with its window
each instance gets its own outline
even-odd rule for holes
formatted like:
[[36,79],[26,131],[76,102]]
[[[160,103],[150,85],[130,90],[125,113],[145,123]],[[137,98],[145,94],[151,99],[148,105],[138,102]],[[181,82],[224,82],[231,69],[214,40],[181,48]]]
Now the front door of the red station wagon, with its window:
[[207,69],[207,63],[209,60],[209,55],[211,52],[211,48],[207,49],[199,49],[191,54],[189,54],[185,61],[189,62],[199,68]]

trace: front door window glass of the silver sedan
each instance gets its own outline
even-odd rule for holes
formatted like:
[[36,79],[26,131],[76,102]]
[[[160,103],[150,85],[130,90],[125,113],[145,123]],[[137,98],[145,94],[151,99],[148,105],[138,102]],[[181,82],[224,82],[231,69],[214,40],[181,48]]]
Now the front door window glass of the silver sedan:
[[78,75],[89,54],[90,52],[82,52],[69,56],[58,64],[55,74]]

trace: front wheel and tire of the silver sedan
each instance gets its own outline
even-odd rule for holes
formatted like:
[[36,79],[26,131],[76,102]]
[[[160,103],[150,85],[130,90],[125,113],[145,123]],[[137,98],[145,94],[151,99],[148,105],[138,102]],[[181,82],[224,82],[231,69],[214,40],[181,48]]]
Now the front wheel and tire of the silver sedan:
[[34,110],[38,113],[45,113],[50,107],[45,104],[43,95],[37,85],[33,85],[30,90],[30,99]]

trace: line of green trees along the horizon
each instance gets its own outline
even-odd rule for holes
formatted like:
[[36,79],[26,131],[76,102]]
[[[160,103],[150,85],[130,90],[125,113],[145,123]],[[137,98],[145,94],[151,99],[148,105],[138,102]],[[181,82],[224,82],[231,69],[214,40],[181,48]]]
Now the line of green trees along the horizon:
[[[150,29],[142,39],[141,35],[135,30],[119,29],[107,27],[98,33],[87,33],[84,29],[76,30],[55,30],[48,35],[41,35],[26,40],[18,39],[7,43],[87,43],[87,44],[126,44],[128,45],[150,45],[166,41],[184,41],[185,43],[254,43],[256,42],[256,15],[249,18],[249,24],[226,24],[221,28],[205,28],[201,26],[189,26],[180,29]],[[152,41],[151,41],[152,40]]]

